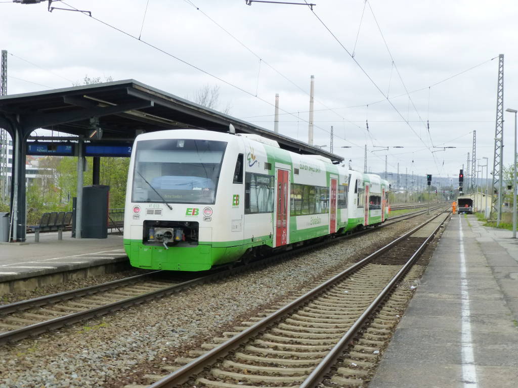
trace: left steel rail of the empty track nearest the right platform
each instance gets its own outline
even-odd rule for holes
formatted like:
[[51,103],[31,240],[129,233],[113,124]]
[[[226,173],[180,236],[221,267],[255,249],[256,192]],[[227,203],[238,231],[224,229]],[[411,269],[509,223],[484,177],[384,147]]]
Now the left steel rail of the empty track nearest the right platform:
[[395,245],[399,244],[402,240],[412,235],[419,229],[423,228],[429,222],[433,221],[435,218],[439,217],[442,213],[437,214],[434,217],[423,222],[421,225],[413,228],[411,231],[405,233],[404,235],[396,238],[396,240],[391,243],[385,245],[384,247],[378,249],[376,252],[371,253],[366,258],[358,261],[357,263],[351,265],[346,270],[340,272],[338,275],[333,276],[332,278],[326,280],[321,285],[315,287],[314,289],[308,291],[304,295],[299,296],[296,300],[290,302],[286,306],[280,308],[279,310],[273,312],[269,316],[263,318],[262,320],[256,322],[252,326],[243,330],[239,334],[236,334],[234,337],[229,340],[223,342],[217,347],[209,350],[207,353],[199,356],[197,359],[191,361],[190,363],[180,367],[176,371],[172,372],[170,375],[166,376],[162,380],[159,380],[149,386],[149,388],[173,388],[182,383],[188,381],[191,377],[202,372],[207,365],[213,364],[220,360],[222,357],[229,354],[231,351],[239,348],[243,342],[248,339],[254,337],[258,333],[266,330],[272,324],[277,323],[279,320],[283,319],[285,316],[289,315],[293,310],[298,308],[299,306],[307,303],[309,300],[314,299],[317,295],[324,292],[329,287],[333,286],[338,280],[347,276],[353,272],[355,272],[358,268],[364,266],[366,263],[371,261],[372,259],[380,256],[385,251],[391,249]]

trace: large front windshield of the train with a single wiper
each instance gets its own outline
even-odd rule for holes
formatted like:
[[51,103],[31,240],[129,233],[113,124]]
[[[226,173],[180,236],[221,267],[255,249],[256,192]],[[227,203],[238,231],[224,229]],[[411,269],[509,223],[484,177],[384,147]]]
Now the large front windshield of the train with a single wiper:
[[214,203],[226,144],[194,139],[139,141],[132,201]]

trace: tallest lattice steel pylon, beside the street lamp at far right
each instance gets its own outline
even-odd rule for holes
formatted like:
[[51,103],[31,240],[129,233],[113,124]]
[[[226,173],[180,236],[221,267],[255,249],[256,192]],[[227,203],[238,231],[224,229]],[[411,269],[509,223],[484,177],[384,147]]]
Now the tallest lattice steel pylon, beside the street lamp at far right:
[[[498,55],[498,86],[496,91],[495,155],[493,160],[492,190],[497,190],[491,201],[491,217],[497,213],[496,225],[500,225],[502,208],[502,166],[503,166],[503,54]],[[493,193],[491,193],[493,194]]]

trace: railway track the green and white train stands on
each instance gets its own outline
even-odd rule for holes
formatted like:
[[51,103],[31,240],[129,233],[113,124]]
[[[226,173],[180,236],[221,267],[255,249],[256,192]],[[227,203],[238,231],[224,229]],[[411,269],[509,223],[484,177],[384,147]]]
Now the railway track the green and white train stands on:
[[[440,208],[440,206],[437,206]],[[401,220],[419,216],[425,211],[393,217],[378,228],[392,225]],[[376,229],[368,228],[353,236],[368,233]],[[57,294],[38,297],[31,300],[0,306],[0,344],[14,342],[29,336],[35,336],[59,327],[96,318],[113,311],[138,305],[157,299],[186,288],[205,282],[214,281],[234,275],[271,261],[289,258],[305,250],[319,248],[323,245],[341,241],[341,236],[334,240],[327,240],[289,252],[283,252],[266,259],[252,262],[246,266],[235,268],[220,268],[211,271],[208,275],[191,278],[173,278],[167,280],[156,279],[162,271],[155,271],[130,278],[110,281],[100,285],[90,286],[78,290],[65,291]],[[185,276],[185,275],[183,275]]]

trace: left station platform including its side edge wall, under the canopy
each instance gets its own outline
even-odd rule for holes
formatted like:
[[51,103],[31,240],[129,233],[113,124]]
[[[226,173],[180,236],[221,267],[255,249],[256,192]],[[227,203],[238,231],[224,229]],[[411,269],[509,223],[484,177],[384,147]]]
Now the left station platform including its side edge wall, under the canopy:
[[129,267],[122,235],[72,238],[63,232],[27,234],[26,243],[0,243],[0,295],[32,290],[70,279],[111,273]]

